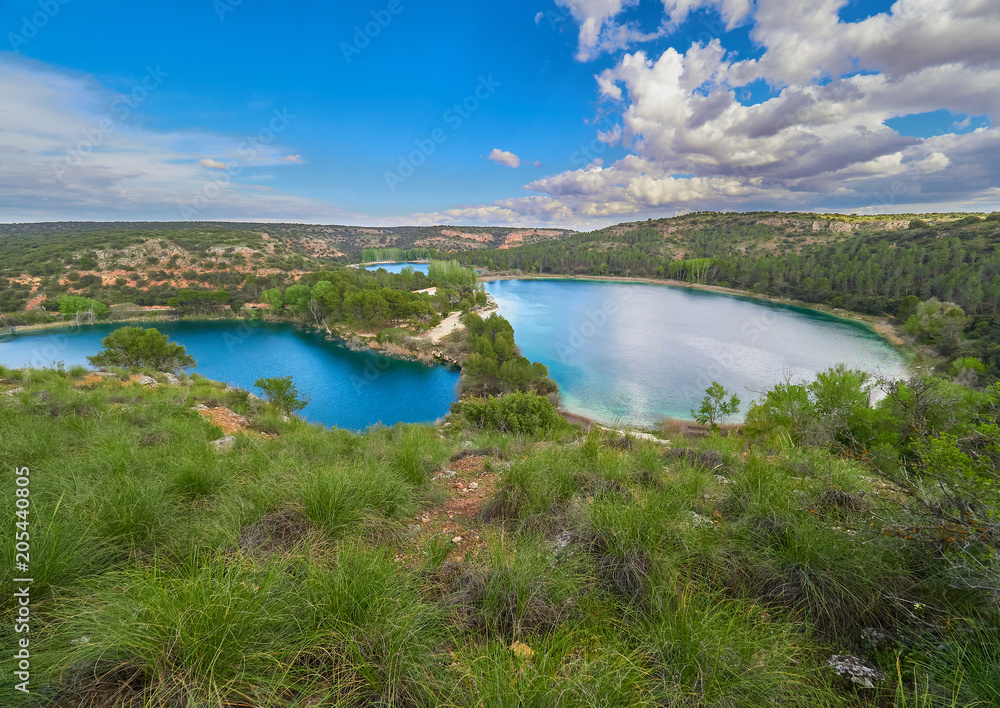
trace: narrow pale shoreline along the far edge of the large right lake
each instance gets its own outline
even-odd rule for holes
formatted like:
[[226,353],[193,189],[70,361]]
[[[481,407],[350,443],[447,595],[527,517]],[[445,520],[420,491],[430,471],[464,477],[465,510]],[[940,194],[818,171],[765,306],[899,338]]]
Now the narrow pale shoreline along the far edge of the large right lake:
[[793,300],[792,298],[782,298],[775,297],[773,295],[764,295],[761,293],[755,293],[749,290],[740,290],[738,288],[728,288],[722,285],[703,285],[701,283],[688,283],[683,280],[672,280],[672,279],[657,279],[657,278],[641,278],[633,276],[617,276],[617,275],[567,275],[562,273],[549,273],[549,274],[526,274],[526,275],[508,275],[508,274],[498,274],[498,275],[484,275],[480,276],[479,282],[490,283],[502,280],[580,280],[580,281],[597,281],[597,282],[620,282],[620,283],[645,283],[648,285],[664,285],[672,288],[683,288],[688,290],[705,290],[708,292],[719,293],[720,295],[734,295],[737,297],[743,297],[751,300],[758,300],[762,302],[769,302],[774,305],[788,305],[790,307],[797,307],[803,310],[811,310],[814,312],[820,312],[830,317],[835,317],[837,319],[845,320],[847,322],[854,322],[863,325],[865,328],[870,330],[873,334],[877,335],[880,339],[885,341],[889,346],[893,348],[894,351],[899,353],[905,360],[907,368],[911,368],[916,362],[917,358],[921,354],[914,345],[906,341],[900,336],[899,329],[888,322],[885,318],[875,317],[873,315],[863,315],[858,312],[851,312],[850,310],[844,310],[842,308],[834,308],[829,305],[817,304],[803,302],[802,300]]

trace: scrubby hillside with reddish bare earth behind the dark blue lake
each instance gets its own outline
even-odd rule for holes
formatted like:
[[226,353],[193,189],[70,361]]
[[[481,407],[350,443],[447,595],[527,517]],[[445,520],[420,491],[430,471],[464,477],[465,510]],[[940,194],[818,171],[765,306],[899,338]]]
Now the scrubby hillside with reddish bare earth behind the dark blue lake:
[[0,313],[44,319],[60,296],[107,305],[166,305],[181,290],[226,290],[252,300],[334,264],[429,258],[439,250],[504,247],[571,233],[559,229],[309,226],[236,223],[0,225]]

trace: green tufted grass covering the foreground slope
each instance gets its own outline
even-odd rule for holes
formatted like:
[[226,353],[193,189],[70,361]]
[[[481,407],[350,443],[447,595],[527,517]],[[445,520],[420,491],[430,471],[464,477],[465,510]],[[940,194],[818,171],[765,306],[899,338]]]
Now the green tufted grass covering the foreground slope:
[[[0,396],[0,459],[31,468],[34,577],[33,691],[5,682],[2,705],[1000,702],[995,599],[884,534],[905,512],[854,462],[736,436],[357,435],[200,377],[78,384],[0,370],[25,388]],[[258,433],[215,452],[199,401]],[[483,544],[420,536],[448,499],[434,475],[470,456],[494,490]],[[834,653],[888,678],[855,687]]]

